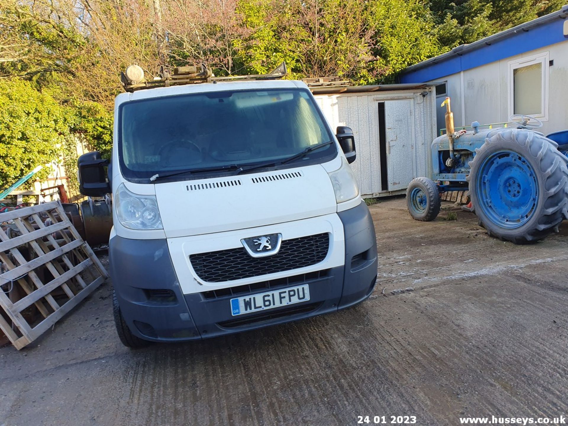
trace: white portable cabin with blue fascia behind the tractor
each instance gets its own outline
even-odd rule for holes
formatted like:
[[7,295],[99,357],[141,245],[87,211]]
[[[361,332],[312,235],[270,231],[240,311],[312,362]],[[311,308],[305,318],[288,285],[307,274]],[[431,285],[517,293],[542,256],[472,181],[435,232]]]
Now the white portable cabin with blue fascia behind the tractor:
[[512,114],[542,122],[545,135],[568,128],[568,5],[404,69],[400,83],[436,82],[438,135],[445,133],[441,101],[452,98],[455,129],[502,127]]

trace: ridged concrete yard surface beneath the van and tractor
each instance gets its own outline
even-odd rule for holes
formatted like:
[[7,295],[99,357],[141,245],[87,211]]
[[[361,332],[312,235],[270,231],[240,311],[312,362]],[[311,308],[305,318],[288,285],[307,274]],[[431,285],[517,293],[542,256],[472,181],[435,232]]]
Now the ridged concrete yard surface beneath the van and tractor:
[[[448,208],[456,221],[444,220]],[[371,206],[374,294],[293,324],[131,351],[107,282],[27,349],[0,348],[0,426],[568,415],[568,223],[515,246],[444,209],[421,223],[402,198]]]

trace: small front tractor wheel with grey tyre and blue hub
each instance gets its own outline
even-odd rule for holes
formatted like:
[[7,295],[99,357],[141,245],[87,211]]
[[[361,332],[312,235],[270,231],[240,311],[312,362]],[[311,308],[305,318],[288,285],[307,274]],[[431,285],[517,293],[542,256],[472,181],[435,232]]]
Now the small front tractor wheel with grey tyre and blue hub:
[[432,179],[412,179],[406,189],[406,205],[412,218],[430,222],[440,213],[440,191]]

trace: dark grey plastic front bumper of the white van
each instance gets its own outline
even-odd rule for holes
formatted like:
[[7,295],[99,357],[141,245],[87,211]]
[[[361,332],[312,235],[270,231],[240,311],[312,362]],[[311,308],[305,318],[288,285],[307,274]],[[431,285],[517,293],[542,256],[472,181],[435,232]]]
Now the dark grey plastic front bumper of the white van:
[[[166,240],[114,236],[110,274],[120,311],[132,333],[151,341],[184,341],[251,330],[337,311],[365,300],[377,279],[377,245],[365,203],[337,214],[345,235],[345,264],[318,272],[231,287],[227,294],[183,295]],[[239,316],[230,299],[306,283],[310,300]]]

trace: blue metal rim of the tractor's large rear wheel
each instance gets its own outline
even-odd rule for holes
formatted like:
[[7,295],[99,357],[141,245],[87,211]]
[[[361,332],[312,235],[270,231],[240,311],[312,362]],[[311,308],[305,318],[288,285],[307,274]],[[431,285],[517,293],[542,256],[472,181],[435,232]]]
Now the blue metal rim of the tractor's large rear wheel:
[[476,207],[499,227],[519,228],[536,210],[536,173],[527,159],[517,152],[492,153],[483,160],[475,184],[479,198]]

